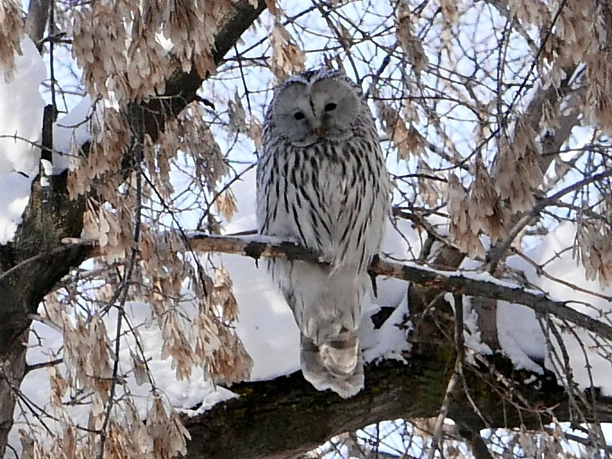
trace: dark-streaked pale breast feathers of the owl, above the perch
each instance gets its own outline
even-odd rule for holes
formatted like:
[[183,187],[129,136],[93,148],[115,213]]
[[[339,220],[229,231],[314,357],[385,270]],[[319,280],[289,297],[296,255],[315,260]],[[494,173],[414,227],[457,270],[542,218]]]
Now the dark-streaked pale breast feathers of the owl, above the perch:
[[269,145],[259,165],[261,233],[287,237],[335,267],[360,271],[382,239],[384,174],[378,146],[361,137],[308,147]]

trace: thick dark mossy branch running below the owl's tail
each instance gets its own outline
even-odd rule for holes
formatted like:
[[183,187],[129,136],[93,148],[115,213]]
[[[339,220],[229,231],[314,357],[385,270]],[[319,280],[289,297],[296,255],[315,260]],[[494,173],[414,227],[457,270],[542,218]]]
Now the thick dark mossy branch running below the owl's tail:
[[[192,436],[187,458],[291,458],[332,436],[382,420],[435,417],[455,361],[452,343],[440,343],[433,353],[409,356],[408,365],[390,360],[368,365],[364,391],[349,400],[329,391],[318,392],[300,373],[235,384],[230,389],[239,398],[219,403],[198,416],[184,417]],[[552,416],[559,421],[572,419],[564,390],[550,374],[522,372],[521,377],[512,373],[512,364],[504,357],[491,356],[491,360],[509,371],[509,379],[518,381],[512,394],[520,394],[532,406],[517,409],[513,395],[500,397],[499,391],[507,392],[507,387],[494,375],[465,365],[465,386],[479,411],[486,414],[488,426],[537,430],[540,422],[547,424]],[[469,422],[477,426],[475,431],[488,427],[461,390],[449,398],[450,419]],[[597,403],[599,421],[610,422],[612,399],[599,398]]]

